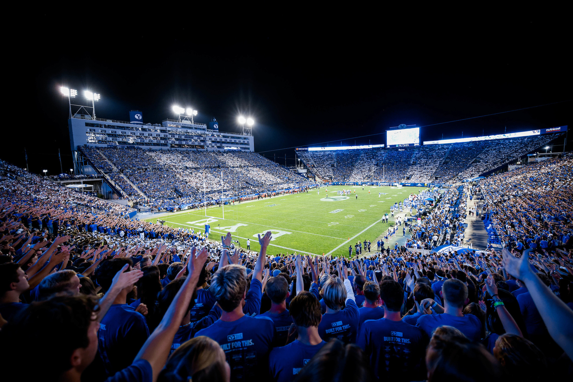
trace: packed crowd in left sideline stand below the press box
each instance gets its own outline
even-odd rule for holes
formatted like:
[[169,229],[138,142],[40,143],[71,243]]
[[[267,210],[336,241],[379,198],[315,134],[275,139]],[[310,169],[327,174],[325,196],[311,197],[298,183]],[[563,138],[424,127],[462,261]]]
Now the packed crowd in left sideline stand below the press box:
[[213,203],[221,198],[221,188],[223,198],[229,198],[312,184],[251,152],[117,147],[85,147],[82,151],[97,170],[109,176],[123,198],[142,200],[142,205],[154,208],[202,203],[204,199]]

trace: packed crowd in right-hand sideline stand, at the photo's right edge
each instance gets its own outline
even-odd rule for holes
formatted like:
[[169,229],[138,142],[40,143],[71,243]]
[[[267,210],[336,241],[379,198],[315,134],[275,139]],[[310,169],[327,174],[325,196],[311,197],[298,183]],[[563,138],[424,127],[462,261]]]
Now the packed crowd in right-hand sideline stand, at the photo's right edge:
[[556,157],[480,182],[486,228],[519,251],[568,245],[573,233],[573,156]]

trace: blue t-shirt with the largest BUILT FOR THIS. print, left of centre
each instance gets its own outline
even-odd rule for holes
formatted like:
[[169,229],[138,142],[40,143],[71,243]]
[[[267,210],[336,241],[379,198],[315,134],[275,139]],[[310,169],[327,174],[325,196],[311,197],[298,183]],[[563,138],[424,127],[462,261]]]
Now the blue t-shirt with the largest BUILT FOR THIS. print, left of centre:
[[195,337],[217,341],[231,368],[231,381],[262,381],[268,378],[268,357],[274,337],[270,318],[245,316],[236,321],[217,320]]

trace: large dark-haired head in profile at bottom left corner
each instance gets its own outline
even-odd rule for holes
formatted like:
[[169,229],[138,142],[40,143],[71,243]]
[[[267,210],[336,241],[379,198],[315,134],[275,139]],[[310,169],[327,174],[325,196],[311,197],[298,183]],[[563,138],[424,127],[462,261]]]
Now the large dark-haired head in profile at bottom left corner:
[[[72,368],[72,356],[80,351],[81,373],[92,363],[97,352],[97,298],[92,296],[54,296],[33,302],[18,320],[11,320],[0,331],[0,351],[25,354],[30,344],[41,357],[34,359],[34,370],[23,380],[61,380]],[[93,330],[93,332],[92,332]],[[27,373],[25,373],[27,374]]]

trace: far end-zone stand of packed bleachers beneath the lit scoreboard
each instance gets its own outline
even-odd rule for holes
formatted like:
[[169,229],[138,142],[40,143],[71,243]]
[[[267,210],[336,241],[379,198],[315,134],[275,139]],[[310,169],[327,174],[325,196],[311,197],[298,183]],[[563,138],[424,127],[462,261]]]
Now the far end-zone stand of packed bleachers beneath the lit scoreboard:
[[453,182],[512,162],[558,137],[539,135],[403,148],[308,151],[298,155],[324,181]]

